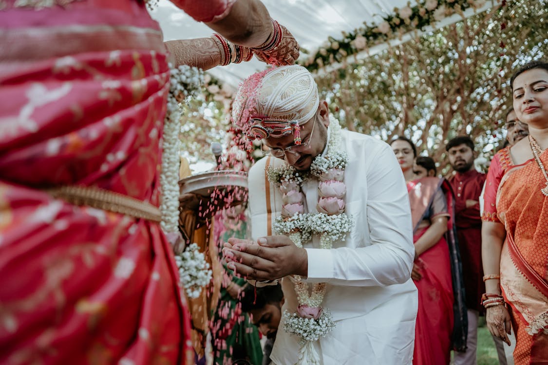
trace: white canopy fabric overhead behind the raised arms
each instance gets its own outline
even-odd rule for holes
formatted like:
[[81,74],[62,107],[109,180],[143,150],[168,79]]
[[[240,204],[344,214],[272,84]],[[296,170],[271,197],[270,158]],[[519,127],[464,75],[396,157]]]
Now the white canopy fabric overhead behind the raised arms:
[[[199,0],[197,0],[199,1]],[[408,0],[262,0],[273,19],[286,26],[293,33],[301,48],[315,51],[329,36],[341,38],[341,32],[351,32],[367,22],[368,25],[380,24],[382,17],[392,14],[395,7],[407,5]],[[486,10],[494,5],[495,1],[487,2],[482,9]],[[473,15],[473,9],[465,12],[465,16]],[[193,20],[182,10],[168,0],[160,0],[151,16],[162,27],[165,40],[189,39],[209,37],[212,30],[202,23]],[[460,20],[459,15],[444,19],[439,26],[447,25]],[[410,36],[406,37],[409,39]],[[406,40],[403,39],[403,40]],[[392,43],[401,43],[395,40]],[[370,48],[368,53],[357,55],[357,59],[367,57],[387,47],[384,43]],[[353,56],[352,56],[353,57]],[[333,69],[339,65],[332,65]],[[234,88],[250,74],[265,68],[265,64],[253,59],[250,62],[225,67],[215,67],[209,72]]]

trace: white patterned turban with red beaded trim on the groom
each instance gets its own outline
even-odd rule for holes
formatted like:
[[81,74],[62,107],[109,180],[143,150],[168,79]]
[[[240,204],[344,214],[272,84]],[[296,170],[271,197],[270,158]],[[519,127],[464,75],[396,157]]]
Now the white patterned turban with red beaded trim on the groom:
[[318,106],[318,86],[312,74],[299,65],[280,66],[255,73],[239,86],[232,118],[250,139],[270,135],[251,131],[253,125],[260,124],[258,119],[250,120],[254,117],[273,121],[266,129],[274,133],[283,130],[287,135],[290,125],[302,125],[312,119]]

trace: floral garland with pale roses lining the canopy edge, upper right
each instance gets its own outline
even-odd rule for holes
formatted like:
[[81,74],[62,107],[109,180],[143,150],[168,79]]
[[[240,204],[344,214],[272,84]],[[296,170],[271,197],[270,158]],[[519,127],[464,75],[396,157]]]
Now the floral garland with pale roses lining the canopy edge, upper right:
[[[500,0],[495,0],[500,2]],[[367,25],[350,33],[343,32],[342,39],[329,37],[324,47],[310,53],[307,60],[298,62],[309,71],[318,70],[330,63],[343,62],[348,56],[367,50],[374,45],[403,36],[404,33],[423,29],[447,16],[463,15],[470,8],[480,9],[486,0],[418,0],[418,4],[394,8],[393,14],[383,17],[378,25]]]

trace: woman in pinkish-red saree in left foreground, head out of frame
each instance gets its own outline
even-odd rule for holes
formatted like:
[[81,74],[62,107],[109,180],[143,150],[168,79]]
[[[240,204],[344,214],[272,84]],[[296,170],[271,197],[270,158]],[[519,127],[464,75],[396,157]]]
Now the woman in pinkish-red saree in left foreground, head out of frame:
[[[173,2],[243,45],[271,32],[256,1]],[[0,8],[0,363],[192,363],[158,224],[170,73],[158,24],[138,0]],[[220,63],[210,38],[167,47],[177,64]],[[51,194],[66,186],[132,207]]]

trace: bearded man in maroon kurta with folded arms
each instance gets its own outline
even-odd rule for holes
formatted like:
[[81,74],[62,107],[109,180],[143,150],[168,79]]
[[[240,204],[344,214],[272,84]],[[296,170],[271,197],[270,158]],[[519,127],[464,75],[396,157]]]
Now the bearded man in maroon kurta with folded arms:
[[455,224],[468,308],[466,352],[455,352],[455,365],[476,364],[478,316],[483,313],[481,296],[485,292],[481,262],[481,216],[479,194],[486,175],[474,168],[474,143],[468,136],[447,143],[449,163],[456,174],[449,178],[455,193]]

